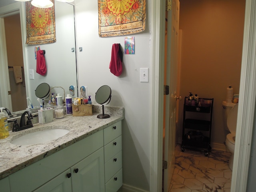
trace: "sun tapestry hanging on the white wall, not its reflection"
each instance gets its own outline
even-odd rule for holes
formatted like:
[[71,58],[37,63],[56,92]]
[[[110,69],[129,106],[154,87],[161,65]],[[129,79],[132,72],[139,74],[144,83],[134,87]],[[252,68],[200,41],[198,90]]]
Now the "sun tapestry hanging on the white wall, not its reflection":
[[99,36],[129,35],[145,30],[146,0],[98,0]]

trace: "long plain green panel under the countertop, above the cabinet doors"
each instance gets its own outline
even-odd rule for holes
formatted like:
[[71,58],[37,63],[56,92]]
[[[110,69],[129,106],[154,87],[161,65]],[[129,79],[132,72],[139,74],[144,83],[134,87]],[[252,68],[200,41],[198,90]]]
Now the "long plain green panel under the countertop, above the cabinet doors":
[[[19,170],[9,176],[11,192],[36,190],[46,184],[65,170],[72,168],[77,163],[85,162],[86,157],[103,147],[103,130],[96,132],[38,162]],[[100,150],[102,157],[103,150]],[[104,172],[104,159],[99,165]],[[86,164],[84,165],[86,166]],[[98,170],[98,168],[97,168]],[[71,172],[72,175],[73,172]],[[104,180],[104,175],[102,178]],[[98,186],[97,186],[98,187]]]

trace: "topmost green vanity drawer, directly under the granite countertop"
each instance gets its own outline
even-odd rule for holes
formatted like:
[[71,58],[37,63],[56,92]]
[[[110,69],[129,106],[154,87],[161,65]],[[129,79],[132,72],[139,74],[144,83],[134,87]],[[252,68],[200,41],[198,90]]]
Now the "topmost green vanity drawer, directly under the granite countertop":
[[104,129],[104,145],[122,134],[122,122],[119,121]]

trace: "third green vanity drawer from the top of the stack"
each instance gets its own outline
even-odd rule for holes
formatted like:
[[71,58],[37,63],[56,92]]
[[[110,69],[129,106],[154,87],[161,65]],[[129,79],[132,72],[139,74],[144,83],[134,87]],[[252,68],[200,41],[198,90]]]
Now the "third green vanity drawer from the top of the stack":
[[105,182],[122,168],[122,151],[114,155],[105,163]]

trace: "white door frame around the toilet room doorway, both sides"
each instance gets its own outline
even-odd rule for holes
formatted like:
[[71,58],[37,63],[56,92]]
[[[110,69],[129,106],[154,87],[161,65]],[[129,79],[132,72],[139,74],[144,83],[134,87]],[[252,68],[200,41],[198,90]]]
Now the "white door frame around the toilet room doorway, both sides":
[[[165,1],[151,4],[152,154],[150,192],[162,191]],[[232,192],[246,191],[256,98],[256,0],[246,0]],[[157,102],[156,102],[157,101]]]

